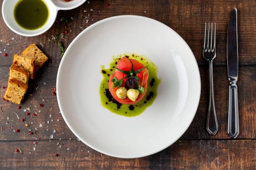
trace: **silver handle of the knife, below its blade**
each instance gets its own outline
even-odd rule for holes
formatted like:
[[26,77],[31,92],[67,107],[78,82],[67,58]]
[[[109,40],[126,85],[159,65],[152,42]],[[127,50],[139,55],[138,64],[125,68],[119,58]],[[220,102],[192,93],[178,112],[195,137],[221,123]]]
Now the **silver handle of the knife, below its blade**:
[[236,138],[239,134],[238,121],[238,101],[236,82],[229,85],[229,114],[228,114],[228,134]]

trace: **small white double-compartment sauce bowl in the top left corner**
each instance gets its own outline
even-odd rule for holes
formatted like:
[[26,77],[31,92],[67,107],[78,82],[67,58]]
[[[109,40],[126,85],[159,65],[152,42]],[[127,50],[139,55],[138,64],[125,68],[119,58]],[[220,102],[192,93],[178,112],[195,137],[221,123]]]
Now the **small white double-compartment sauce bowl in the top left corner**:
[[59,10],[74,9],[86,0],[71,0],[64,2],[62,0],[43,0],[48,7],[49,17],[46,23],[36,30],[26,30],[16,22],[14,18],[14,7],[19,0],[3,0],[2,3],[2,17],[5,24],[16,34],[23,36],[36,36],[45,33],[49,30],[55,22]]

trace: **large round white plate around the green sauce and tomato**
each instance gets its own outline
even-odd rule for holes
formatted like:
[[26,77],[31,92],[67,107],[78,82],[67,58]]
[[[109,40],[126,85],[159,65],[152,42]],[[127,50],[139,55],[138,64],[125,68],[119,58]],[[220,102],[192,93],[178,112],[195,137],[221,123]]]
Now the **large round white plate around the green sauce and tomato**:
[[[100,66],[123,52],[146,55],[159,68],[158,96],[128,118],[100,104]],[[67,48],[57,75],[57,99],[71,131],[94,150],[121,158],[157,153],[184,134],[197,111],[200,75],[195,56],[170,27],[140,16],[98,21]]]

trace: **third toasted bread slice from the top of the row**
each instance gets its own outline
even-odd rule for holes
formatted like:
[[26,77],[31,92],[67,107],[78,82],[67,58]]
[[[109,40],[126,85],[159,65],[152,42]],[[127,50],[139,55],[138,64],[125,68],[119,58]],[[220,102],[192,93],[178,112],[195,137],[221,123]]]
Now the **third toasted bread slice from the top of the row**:
[[13,78],[16,78],[24,84],[28,85],[29,72],[25,68],[13,63],[10,67],[9,79]]

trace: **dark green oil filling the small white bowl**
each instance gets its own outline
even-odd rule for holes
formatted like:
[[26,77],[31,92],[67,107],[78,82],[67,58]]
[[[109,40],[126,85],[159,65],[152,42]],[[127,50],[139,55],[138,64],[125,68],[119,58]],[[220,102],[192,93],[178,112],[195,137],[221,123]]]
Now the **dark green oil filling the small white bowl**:
[[14,7],[14,18],[26,30],[41,28],[49,17],[49,10],[43,0],[19,0]]

